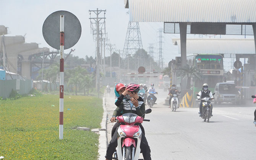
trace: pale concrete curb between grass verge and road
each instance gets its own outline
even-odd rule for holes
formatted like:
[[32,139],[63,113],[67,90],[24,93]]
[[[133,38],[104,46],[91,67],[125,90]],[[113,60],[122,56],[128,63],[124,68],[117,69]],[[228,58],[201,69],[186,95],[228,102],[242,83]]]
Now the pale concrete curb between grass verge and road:
[[99,158],[98,160],[105,160],[105,154],[106,154],[106,150],[107,150],[107,144],[108,144],[108,140],[107,140],[107,109],[105,106],[105,94],[103,96],[103,118],[102,118],[102,122],[100,123],[101,125],[101,129],[99,131]]

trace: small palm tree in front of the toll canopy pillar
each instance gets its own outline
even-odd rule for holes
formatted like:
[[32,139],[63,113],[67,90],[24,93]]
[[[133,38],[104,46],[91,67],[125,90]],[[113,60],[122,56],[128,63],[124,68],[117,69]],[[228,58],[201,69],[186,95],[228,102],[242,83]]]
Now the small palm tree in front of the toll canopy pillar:
[[189,65],[181,67],[179,69],[179,72],[181,73],[180,78],[187,78],[187,90],[190,89],[191,78],[193,78],[193,80],[199,80],[202,77],[201,73],[199,72],[199,69],[193,66],[190,67]]

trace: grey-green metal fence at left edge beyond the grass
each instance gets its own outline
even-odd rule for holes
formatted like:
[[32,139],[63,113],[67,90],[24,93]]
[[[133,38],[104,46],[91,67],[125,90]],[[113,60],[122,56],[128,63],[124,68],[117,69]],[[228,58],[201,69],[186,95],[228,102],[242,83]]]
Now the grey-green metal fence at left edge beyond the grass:
[[[17,80],[0,80],[0,97],[9,98],[11,90],[16,90]],[[32,80],[19,80],[19,94],[28,94],[32,89]]]

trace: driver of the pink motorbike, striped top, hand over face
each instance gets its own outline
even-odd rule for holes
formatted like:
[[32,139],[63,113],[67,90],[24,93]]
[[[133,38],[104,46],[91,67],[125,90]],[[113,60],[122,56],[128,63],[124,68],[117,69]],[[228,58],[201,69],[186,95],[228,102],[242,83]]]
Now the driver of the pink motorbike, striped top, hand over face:
[[[130,83],[127,88],[131,93],[130,94],[137,94],[139,91],[139,85]],[[120,114],[121,111],[123,111],[123,114],[125,113],[134,113],[137,114],[138,116],[143,116],[145,114],[145,105],[143,101],[138,101],[136,98],[132,98],[129,94],[126,95],[127,99],[123,99],[123,102],[118,106],[115,111],[113,112],[112,118],[110,119],[111,122],[113,123],[116,120],[116,117]],[[112,136],[112,139],[107,147],[107,153],[105,155],[106,160],[112,160],[112,155],[115,152],[115,148],[117,147],[117,137],[118,137],[118,125],[114,125],[113,128],[115,127],[115,133]],[[140,124],[142,127],[142,125]],[[141,134],[141,152],[143,154],[144,160],[151,160],[151,155],[150,155],[150,148],[147,143],[147,139],[144,135],[144,133]]]

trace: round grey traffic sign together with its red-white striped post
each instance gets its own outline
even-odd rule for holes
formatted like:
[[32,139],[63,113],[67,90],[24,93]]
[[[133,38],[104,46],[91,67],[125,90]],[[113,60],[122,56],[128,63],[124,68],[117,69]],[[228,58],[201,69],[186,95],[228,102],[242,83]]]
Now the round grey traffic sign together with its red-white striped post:
[[[57,26],[60,26],[58,29]],[[65,27],[65,36],[64,36]],[[78,18],[68,11],[56,11],[44,21],[42,32],[45,41],[60,50],[60,123],[59,139],[63,139],[64,112],[64,50],[74,46],[81,36],[81,24]],[[64,38],[65,37],[65,38]],[[65,45],[64,45],[65,44]]]

